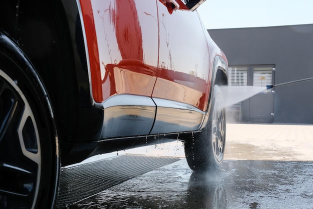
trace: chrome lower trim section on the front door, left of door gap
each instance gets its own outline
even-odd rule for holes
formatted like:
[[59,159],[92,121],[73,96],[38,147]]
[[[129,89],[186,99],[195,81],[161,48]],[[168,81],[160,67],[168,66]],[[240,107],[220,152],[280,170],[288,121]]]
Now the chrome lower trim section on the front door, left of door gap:
[[101,138],[149,134],[156,106],[148,96],[118,94],[103,103]]

